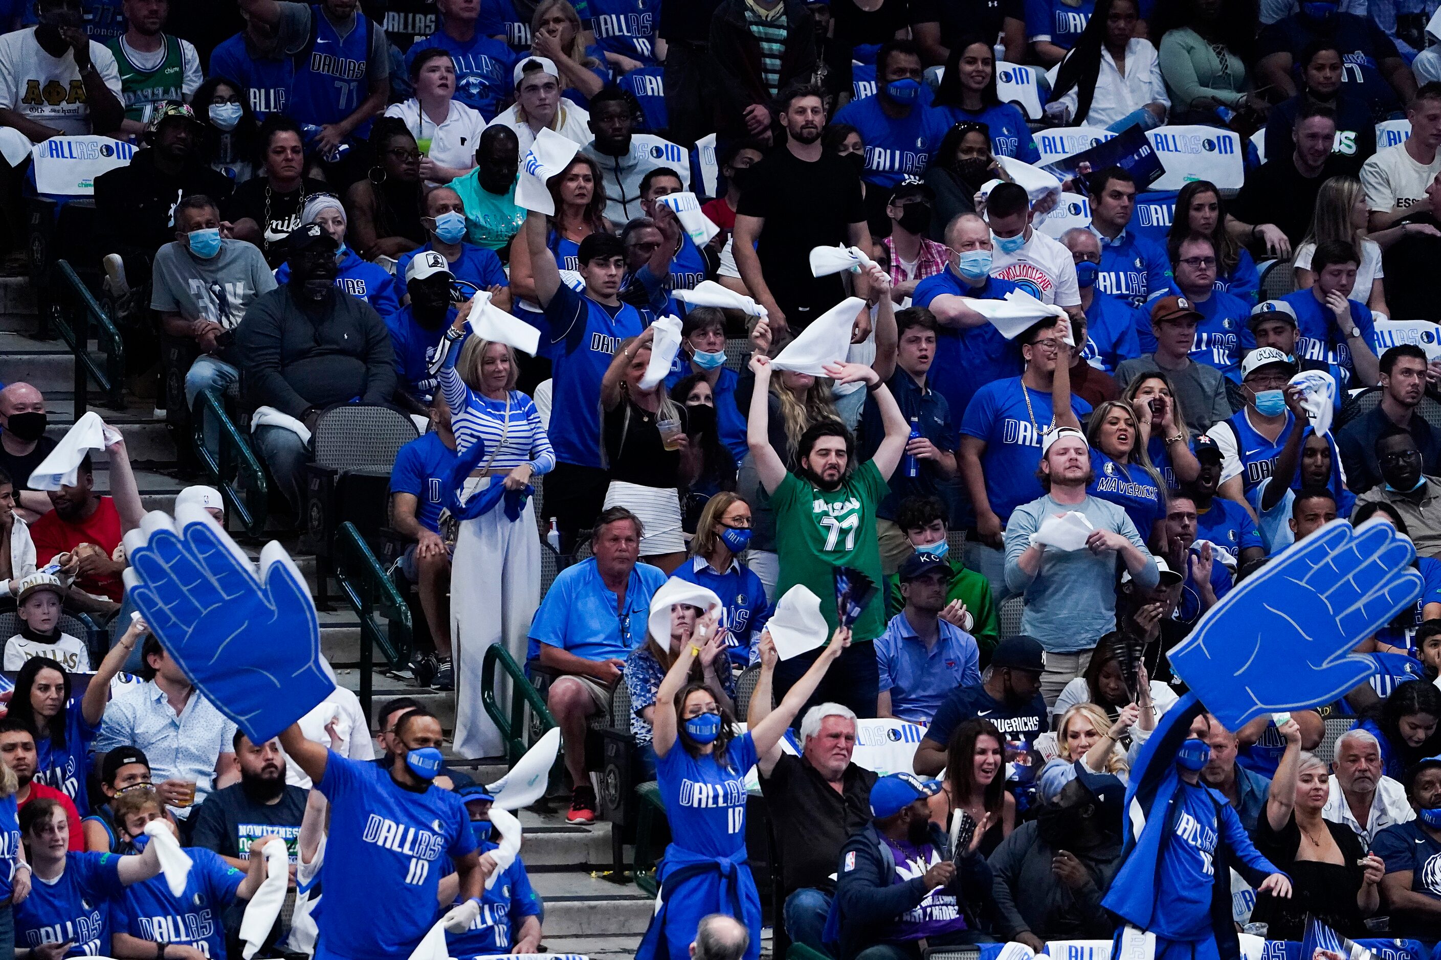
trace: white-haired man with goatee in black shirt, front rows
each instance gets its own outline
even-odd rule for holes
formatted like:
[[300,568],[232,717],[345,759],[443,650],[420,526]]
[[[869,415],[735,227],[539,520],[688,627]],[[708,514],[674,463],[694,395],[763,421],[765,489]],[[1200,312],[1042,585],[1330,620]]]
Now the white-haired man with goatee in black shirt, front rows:
[[[755,727],[771,712],[769,689],[758,688],[746,714]],[[836,885],[830,875],[850,835],[870,822],[876,774],[850,761],[856,751],[856,714],[840,704],[818,704],[801,718],[801,756],[777,744],[761,757],[765,794],[781,843],[785,930],[794,943],[824,951],[821,930]]]

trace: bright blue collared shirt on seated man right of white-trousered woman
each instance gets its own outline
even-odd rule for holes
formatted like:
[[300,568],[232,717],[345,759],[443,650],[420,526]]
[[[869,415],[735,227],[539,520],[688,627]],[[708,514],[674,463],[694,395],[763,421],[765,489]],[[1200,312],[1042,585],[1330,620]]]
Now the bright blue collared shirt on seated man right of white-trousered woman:
[[529,659],[540,643],[561,648],[588,661],[618,659],[646,642],[650,597],[666,583],[666,571],[637,563],[625,586],[625,609],[605,587],[595,557],[562,570],[540,600],[530,622]]

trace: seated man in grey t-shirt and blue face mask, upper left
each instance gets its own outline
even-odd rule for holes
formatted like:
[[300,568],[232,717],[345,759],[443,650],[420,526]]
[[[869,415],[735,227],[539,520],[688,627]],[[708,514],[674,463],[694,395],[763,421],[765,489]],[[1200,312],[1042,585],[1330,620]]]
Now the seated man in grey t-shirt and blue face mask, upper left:
[[[251,301],[275,289],[275,275],[254,243],[220,236],[220,209],[210,197],[184,197],[174,220],[174,242],[156,253],[150,309],[160,314],[167,335],[200,351],[184,374],[184,404],[193,409],[202,390],[225,393],[239,383],[233,331]],[[213,453],[219,427],[206,427],[206,448]]]

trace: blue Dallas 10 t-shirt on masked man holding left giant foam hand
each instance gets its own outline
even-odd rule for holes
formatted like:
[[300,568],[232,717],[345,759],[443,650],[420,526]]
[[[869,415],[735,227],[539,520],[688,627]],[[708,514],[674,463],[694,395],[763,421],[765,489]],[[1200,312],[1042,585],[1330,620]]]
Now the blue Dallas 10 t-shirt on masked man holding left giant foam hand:
[[437,861],[476,849],[465,805],[437,786],[406,790],[389,770],[333,750],[316,789],[330,800],[320,941],[350,960],[409,956],[435,918]]

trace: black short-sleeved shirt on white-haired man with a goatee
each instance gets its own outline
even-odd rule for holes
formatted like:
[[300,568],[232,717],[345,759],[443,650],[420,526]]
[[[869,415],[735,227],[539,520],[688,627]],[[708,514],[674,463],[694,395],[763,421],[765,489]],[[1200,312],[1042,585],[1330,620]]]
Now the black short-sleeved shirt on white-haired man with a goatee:
[[761,793],[781,842],[787,895],[801,887],[836,888],[830,875],[840,864],[840,849],[852,833],[870,823],[875,783],[875,773],[852,763],[837,792],[808,760],[790,753],[781,754],[771,776],[761,776]]

